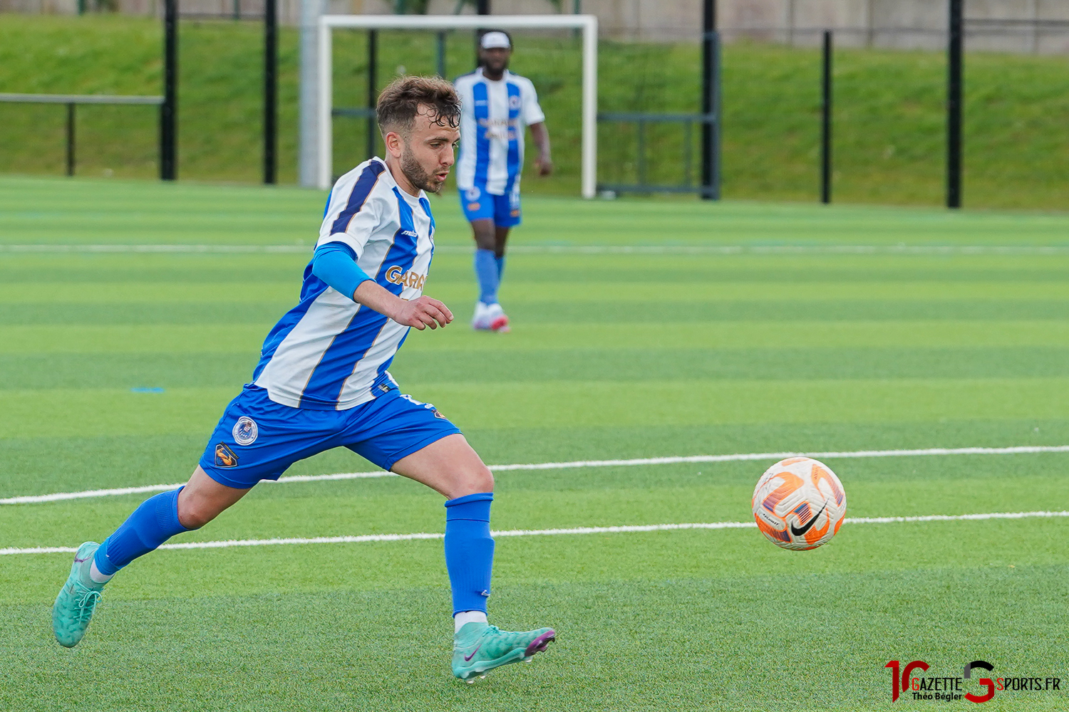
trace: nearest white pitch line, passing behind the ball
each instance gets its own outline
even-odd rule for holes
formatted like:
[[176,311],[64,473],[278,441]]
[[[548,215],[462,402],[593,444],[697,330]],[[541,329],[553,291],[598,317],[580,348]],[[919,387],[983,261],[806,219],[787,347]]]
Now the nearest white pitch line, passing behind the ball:
[[[983,519],[1034,519],[1069,517],[1069,511],[1008,511],[978,515],[921,515],[919,517],[848,517],[847,524],[899,524],[903,522],[960,522]],[[540,537],[562,534],[632,534],[639,532],[675,532],[679,529],[748,529],[756,528],[755,522],[696,522],[688,524],[632,524],[623,526],[575,526],[561,529],[505,529],[491,532],[495,538]],[[277,547],[293,544],[368,543],[373,541],[415,541],[421,539],[444,539],[445,534],[417,532],[414,534],[361,534],[344,537],[290,537],[277,539],[226,539],[220,541],[189,541],[164,544],[160,549],[230,549],[232,547]],[[77,547],[9,547],[0,549],[0,556],[14,554],[73,554]]]

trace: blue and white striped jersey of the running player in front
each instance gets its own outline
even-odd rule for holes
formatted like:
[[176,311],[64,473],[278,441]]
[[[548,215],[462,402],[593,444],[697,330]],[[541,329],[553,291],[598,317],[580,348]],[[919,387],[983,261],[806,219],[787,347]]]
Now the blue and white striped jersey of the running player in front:
[[[335,184],[316,247],[347,244],[356,263],[402,299],[423,294],[434,253],[434,218],[420,191],[398,187],[386,163],[373,158]],[[252,382],[277,404],[312,410],[347,410],[385,390],[386,370],[408,327],[357,304],[312,274],[309,263],[300,302],[264,341]]]

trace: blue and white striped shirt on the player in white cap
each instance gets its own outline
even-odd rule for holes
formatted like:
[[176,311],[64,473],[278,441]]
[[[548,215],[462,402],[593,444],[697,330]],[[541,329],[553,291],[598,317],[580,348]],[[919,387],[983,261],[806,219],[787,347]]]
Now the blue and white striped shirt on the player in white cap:
[[456,187],[478,187],[492,195],[512,193],[524,164],[524,129],[545,121],[534,84],[507,69],[493,81],[479,68],[458,77],[453,86],[461,97]]

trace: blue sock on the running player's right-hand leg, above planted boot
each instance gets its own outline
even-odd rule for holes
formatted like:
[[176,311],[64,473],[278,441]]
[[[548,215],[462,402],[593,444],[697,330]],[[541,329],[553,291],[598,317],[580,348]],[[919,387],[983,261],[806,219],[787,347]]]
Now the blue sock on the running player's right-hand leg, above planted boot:
[[454,616],[462,611],[486,613],[494,568],[494,540],[490,536],[493,500],[493,492],[480,492],[446,502],[446,570],[453,589]]

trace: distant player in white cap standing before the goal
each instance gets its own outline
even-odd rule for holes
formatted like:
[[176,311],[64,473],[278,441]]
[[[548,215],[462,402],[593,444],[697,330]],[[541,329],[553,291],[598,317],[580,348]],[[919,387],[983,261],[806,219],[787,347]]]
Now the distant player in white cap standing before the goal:
[[549,132],[538,94],[529,79],[509,72],[512,39],[507,32],[486,32],[479,41],[479,68],[456,79],[461,96],[461,156],[456,190],[475,235],[475,273],[479,281],[471,327],[509,330],[509,317],[497,301],[505,271],[509,230],[520,224],[520,172],[524,163],[524,126],[539,149],[539,175],[553,172]]

